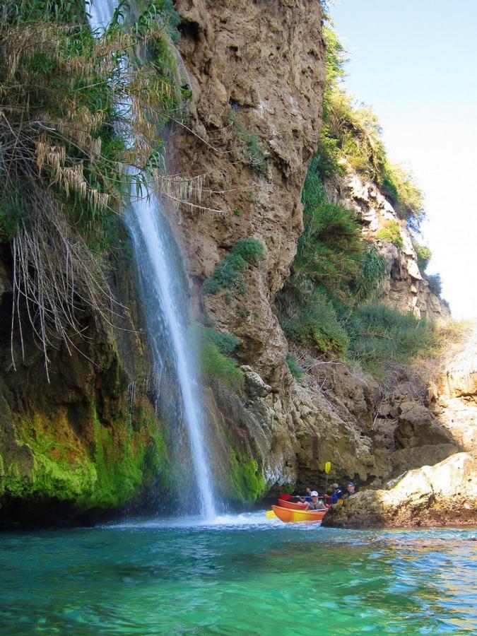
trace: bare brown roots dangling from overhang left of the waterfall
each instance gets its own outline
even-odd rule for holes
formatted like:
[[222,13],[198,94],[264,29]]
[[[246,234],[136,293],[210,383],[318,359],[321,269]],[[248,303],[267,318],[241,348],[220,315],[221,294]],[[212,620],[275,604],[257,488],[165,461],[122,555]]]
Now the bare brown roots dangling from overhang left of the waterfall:
[[13,311],[11,356],[15,366],[13,335],[16,324],[24,355],[21,315],[26,312],[45,356],[49,380],[48,348],[64,341],[77,348],[73,336],[84,337],[82,319],[90,314],[97,329],[114,325],[122,306],[114,300],[98,261],[64,218],[52,196],[34,187],[31,222],[23,223],[12,242]]

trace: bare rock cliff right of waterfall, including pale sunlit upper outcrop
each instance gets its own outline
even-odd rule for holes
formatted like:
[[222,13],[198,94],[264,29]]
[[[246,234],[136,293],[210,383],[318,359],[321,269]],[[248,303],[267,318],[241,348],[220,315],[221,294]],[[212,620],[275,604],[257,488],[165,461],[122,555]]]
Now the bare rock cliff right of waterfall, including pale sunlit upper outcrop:
[[[423,404],[416,412],[406,391],[395,401],[407,399],[408,404],[395,410],[407,415],[401,421],[394,413],[389,430],[386,416],[379,418],[379,402],[383,412],[385,406],[370,375],[353,375],[345,365],[321,364],[298,383],[288,372],[288,346],[272,305],[302,232],[300,196],[319,133],[321,15],[315,2],[240,6],[239,12],[234,2],[220,8],[213,2],[177,3],[182,17],[179,49],[195,110],[188,124],[194,134],[175,131],[174,169],[207,177],[202,204],[208,209],[182,206],[176,213],[177,233],[196,286],[213,274],[237,240],[255,237],[266,247],[266,258],[245,273],[245,293],[224,289],[202,297],[216,327],[240,339],[237,353],[245,364],[245,403],[224,418],[224,425],[233,420],[229,425],[253,440],[269,487],[320,480],[326,459],[334,459],[336,477],[362,481],[420,465],[417,454],[411,463],[404,459],[407,450],[401,451],[399,461],[398,452],[396,463],[389,459],[410,446],[404,436],[401,442],[394,440],[394,428],[400,422],[404,428],[406,417],[417,420],[418,428],[422,424],[419,442],[413,438],[412,444],[432,446],[431,454],[437,444],[437,459],[447,457],[456,449],[452,440],[446,432],[440,434]],[[418,316],[447,314],[418,270],[404,222],[377,188],[349,174],[329,184],[329,195],[355,209],[363,234],[372,240],[377,241],[387,220],[399,223],[402,247],[377,242],[387,259],[387,301]]]

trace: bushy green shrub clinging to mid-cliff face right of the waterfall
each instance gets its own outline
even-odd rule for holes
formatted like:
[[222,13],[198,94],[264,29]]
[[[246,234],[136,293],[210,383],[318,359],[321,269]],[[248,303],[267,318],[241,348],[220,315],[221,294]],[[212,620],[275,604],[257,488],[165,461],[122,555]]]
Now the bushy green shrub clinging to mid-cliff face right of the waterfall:
[[214,269],[211,278],[208,278],[202,293],[216,294],[223,288],[244,293],[242,271],[249,263],[265,257],[264,246],[257,239],[241,239],[235,243],[227,256],[220,261]]

